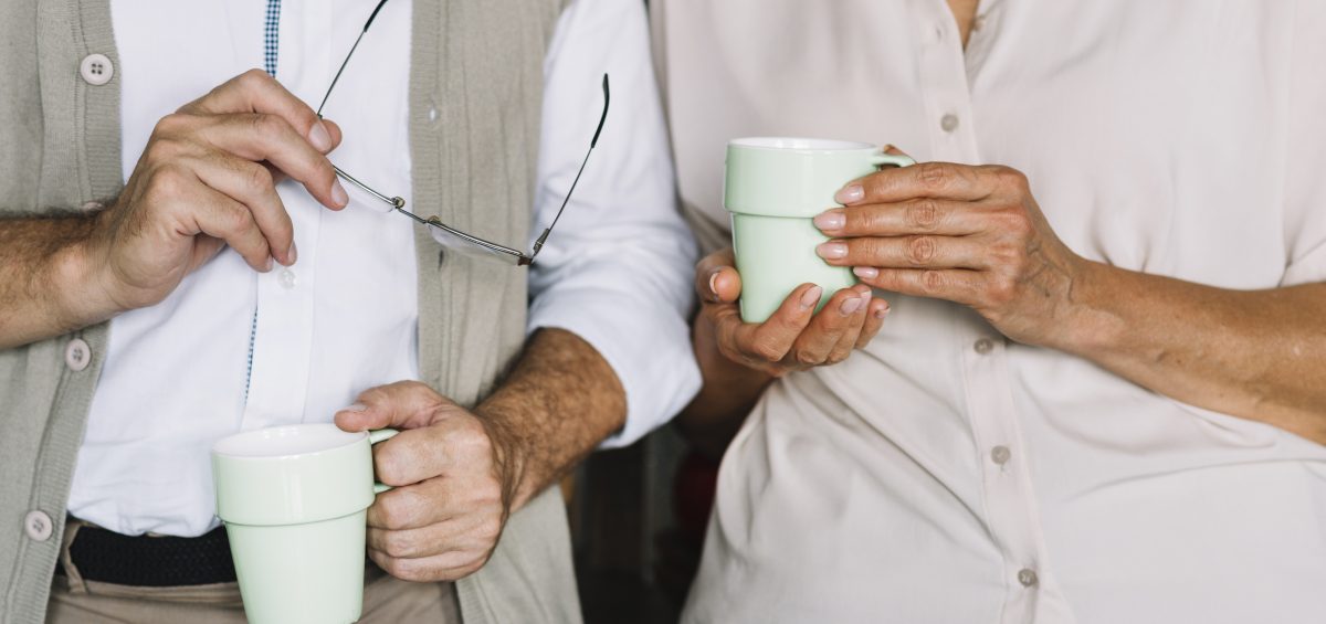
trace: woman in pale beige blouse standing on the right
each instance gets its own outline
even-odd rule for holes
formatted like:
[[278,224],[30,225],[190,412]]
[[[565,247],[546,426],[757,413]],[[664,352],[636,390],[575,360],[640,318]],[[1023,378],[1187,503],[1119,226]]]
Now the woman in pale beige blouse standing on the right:
[[922,162],[815,220],[817,315],[700,264],[683,425],[744,424],[686,621],[1323,617],[1326,3],[652,11],[711,250],[732,138]]

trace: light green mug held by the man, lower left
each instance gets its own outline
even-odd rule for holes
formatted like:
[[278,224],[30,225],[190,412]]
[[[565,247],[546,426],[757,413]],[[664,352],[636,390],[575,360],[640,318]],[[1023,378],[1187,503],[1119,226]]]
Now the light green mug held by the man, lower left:
[[325,423],[248,431],[212,445],[216,515],[251,623],[359,619],[367,509],[390,489],[373,481],[370,445],[394,435]]

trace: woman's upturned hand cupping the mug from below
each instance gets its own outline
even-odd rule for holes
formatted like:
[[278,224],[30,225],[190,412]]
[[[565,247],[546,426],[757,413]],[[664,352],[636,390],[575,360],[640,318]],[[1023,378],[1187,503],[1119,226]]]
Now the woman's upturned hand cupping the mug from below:
[[[782,376],[847,359],[879,333],[888,302],[873,299],[870,287],[842,289],[815,314],[821,289],[797,286],[764,323],[745,323],[737,309],[741,277],[733,268],[732,250],[713,253],[695,269],[695,290],[701,309],[696,319],[696,351],[704,366],[704,350],[717,348],[728,360]],[[708,376],[708,375],[707,375]]]

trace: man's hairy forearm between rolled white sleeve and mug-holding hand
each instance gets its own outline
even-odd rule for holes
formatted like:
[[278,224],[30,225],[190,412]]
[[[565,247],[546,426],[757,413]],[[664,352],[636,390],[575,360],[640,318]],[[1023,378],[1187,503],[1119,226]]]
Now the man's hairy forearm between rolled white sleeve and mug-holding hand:
[[511,509],[569,473],[626,421],[626,392],[613,367],[565,330],[534,334],[511,376],[475,412],[500,440],[513,474]]

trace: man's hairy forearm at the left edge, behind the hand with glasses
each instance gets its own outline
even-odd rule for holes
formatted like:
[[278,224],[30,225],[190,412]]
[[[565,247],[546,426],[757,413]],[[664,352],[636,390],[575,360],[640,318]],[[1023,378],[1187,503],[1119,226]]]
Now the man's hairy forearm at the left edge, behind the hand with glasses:
[[109,318],[89,291],[88,215],[0,219],[0,348],[28,344]]

